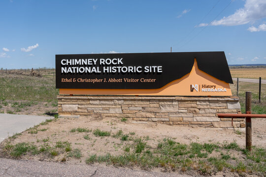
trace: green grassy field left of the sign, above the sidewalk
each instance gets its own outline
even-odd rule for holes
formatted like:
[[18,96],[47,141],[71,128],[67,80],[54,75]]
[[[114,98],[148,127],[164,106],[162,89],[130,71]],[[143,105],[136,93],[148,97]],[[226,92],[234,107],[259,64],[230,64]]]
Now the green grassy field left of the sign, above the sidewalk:
[[[38,73],[38,71],[37,71]],[[53,71],[50,77],[29,76],[29,70],[0,71],[0,113],[43,115],[57,113],[57,95]],[[46,75],[45,75],[46,74]]]

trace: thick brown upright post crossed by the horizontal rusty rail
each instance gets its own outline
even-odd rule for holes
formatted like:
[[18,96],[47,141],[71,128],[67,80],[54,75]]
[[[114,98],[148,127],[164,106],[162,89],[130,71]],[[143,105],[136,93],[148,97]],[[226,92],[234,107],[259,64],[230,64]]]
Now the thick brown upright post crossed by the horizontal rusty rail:
[[[246,91],[246,114],[251,114],[251,91]],[[246,118],[246,149],[252,150],[251,118]]]

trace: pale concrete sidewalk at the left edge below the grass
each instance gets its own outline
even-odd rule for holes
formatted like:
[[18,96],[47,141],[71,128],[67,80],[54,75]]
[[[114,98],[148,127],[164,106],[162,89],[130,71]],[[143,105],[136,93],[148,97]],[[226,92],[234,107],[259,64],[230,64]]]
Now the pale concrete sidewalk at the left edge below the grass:
[[0,142],[50,118],[54,117],[0,114]]

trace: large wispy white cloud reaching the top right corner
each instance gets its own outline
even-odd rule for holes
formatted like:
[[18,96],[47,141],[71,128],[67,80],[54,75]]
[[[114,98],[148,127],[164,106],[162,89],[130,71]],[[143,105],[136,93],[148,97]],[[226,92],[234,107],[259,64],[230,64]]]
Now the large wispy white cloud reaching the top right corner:
[[266,0],[246,0],[243,8],[237,9],[233,15],[224,17],[221,20],[214,20],[211,25],[235,26],[266,17]]

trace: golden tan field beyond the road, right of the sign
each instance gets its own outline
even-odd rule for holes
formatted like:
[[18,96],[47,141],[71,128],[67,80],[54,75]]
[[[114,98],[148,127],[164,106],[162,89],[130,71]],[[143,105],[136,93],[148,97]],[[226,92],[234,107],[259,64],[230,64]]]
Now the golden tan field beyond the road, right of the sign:
[[266,79],[266,68],[231,68],[230,72],[234,78]]

